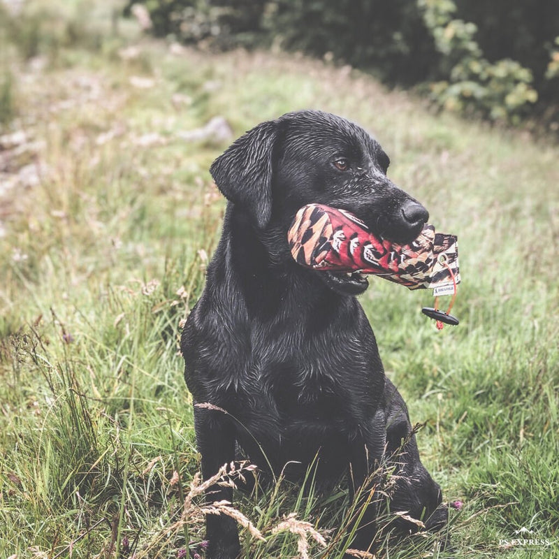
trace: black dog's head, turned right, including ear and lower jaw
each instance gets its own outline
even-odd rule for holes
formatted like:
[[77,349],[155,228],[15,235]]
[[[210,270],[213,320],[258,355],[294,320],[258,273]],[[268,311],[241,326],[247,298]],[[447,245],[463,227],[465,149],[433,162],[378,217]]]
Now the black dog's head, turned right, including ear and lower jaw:
[[[257,230],[286,233],[299,208],[320,203],[347,210],[375,235],[406,244],[419,235],[429,215],[386,176],[389,163],[361,127],[305,110],[259,124],[228,147],[210,173]],[[357,274],[317,273],[340,293],[355,295],[368,286]]]

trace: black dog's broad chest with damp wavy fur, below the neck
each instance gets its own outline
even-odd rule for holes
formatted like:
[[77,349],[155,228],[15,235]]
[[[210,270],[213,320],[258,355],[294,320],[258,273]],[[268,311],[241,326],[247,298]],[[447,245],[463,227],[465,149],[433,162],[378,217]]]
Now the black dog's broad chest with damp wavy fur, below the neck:
[[374,413],[382,365],[370,326],[352,305],[325,312],[284,301],[266,320],[223,298],[219,321],[200,307],[212,328],[198,335],[205,347],[193,344],[198,400],[224,407],[259,440],[355,433]]

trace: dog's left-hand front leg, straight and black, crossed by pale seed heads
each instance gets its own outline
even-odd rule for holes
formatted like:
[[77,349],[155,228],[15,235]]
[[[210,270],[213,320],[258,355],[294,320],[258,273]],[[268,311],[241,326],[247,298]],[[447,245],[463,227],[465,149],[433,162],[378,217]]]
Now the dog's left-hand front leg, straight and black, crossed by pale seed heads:
[[[202,477],[210,479],[224,464],[235,460],[235,430],[228,416],[212,409],[194,407],[196,443],[202,455]],[[233,489],[217,484],[205,493],[206,503],[233,501]],[[206,516],[206,559],[236,559],[240,553],[237,523],[224,514]]]

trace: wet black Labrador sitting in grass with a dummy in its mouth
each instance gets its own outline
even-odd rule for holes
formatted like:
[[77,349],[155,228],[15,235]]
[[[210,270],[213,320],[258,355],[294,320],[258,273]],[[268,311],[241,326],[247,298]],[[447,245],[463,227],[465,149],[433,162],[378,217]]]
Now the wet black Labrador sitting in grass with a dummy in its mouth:
[[[395,242],[416,238],[428,212],[386,177],[388,166],[363,129],[317,111],[263,122],[216,159],[210,172],[229,203],[205,290],[182,333],[185,379],[195,404],[228,412],[194,409],[205,479],[235,459],[238,445],[261,470],[291,479],[318,457],[323,486],[349,472],[355,489],[372,483],[403,442],[390,508],[435,529],[447,509],[355,298],[367,279],[302,268],[286,238],[307,203],[347,210]],[[231,498],[221,486],[208,497]],[[371,504],[353,547],[369,548],[376,515]],[[238,556],[232,518],[208,516],[207,537],[208,558]]]

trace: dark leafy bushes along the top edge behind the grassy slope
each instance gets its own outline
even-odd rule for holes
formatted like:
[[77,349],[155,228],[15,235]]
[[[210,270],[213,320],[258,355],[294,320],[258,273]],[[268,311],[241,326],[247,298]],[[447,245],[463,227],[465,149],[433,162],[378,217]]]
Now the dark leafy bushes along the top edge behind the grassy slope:
[[[131,4],[133,2],[131,1]],[[559,115],[559,3],[535,0],[145,0],[155,34],[214,48],[279,44],[427,85],[437,105],[518,123]],[[551,107],[551,109],[550,109]],[[547,110],[547,112],[546,112]],[[559,124],[558,124],[559,126]]]

